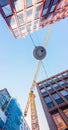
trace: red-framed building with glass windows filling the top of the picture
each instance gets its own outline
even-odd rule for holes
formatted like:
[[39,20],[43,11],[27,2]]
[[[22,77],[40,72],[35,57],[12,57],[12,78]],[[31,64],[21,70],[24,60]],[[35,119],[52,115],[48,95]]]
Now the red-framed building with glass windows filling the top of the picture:
[[15,38],[68,16],[68,0],[0,0],[0,12]]

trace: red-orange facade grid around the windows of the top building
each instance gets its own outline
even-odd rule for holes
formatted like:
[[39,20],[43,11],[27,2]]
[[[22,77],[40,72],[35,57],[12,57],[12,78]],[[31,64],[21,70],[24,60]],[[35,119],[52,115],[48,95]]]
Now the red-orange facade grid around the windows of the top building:
[[[32,24],[32,29],[31,29],[31,31],[30,31],[30,33],[31,33],[31,32],[33,32],[33,31],[35,31],[35,30],[38,30],[39,28],[42,28],[42,27],[44,27],[44,26],[46,26],[46,25],[49,25],[49,24],[54,23],[54,22],[56,22],[56,21],[59,21],[60,19],[64,19],[65,17],[68,16],[68,11],[67,11],[67,10],[68,10],[68,5],[67,5],[67,6],[65,5],[66,2],[68,2],[68,0],[64,0],[63,6],[62,6],[62,8],[60,8],[60,9],[58,9],[58,6],[59,6],[59,4],[60,4],[60,2],[61,2],[62,0],[58,0],[54,11],[53,11],[53,12],[50,12],[51,7],[52,7],[53,2],[54,2],[54,0],[51,0],[51,2],[50,2],[50,4],[49,4],[49,7],[48,7],[48,11],[47,11],[47,13],[46,13],[45,16],[42,16],[42,13],[43,13],[43,10],[44,10],[44,5],[45,5],[45,3],[46,3],[47,0],[41,0],[40,2],[37,2],[37,0],[36,0],[36,2],[33,2],[33,4],[32,4],[30,7],[26,7],[26,1],[24,0],[24,1],[22,1],[22,2],[23,2],[23,5],[24,5],[24,10],[21,10],[21,11],[18,11],[18,12],[16,12],[16,10],[15,10],[14,1],[17,1],[17,0],[9,0],[9,2],[8,2],[8,4],[11,6],[12,13],[13,13],[11,16],[6,17],[6,15],[5,15],[5,13],[4,13],[3,9],[2,9],[2,7],[4,7],[4,6],[2,6],[2,7],[0,6],[0,12],[1,12],[3,18],[5,19],[5,21],[6,21],[7,25],[8,25],[8,27],[9,27],[9,29],[10,29],[11,32],[13,33],[13,36],[14,36],[16,39],[17,39],[17,38],[20,38],[20,37],[22,37],[22,36],[25,36],[25,35],[27,35],[27,34],[29,34],[29,32],[28,32],[28,30],[27,30],[27,24],[30,24],[30,23]],[[38,17],[37,19],[34,19],[34,15],[36,14],[36,6],[39,6],[39,5],[42,5],[42,8],[41,8],[41,10],[40,10],[40,17]],[[65,5],[65,6],[64,6],[64,5]],[[27,22],[26,11],[29,10],[29,9],[31,9],[31,8],[33,9],[32,21],[31,21],[31,22]],[[62,10],[63,10],[63,9],[64,9],[64,11],[63,11],[63,13],[62,13]],[[22,12],[22,11],[24,11],[24,19],[25,19],[24,27],[25,27],[25,30],[26,30],[23,34],[22,34],[21,30],[20,30],[20,27],[22,27],[22,26],[19,25],[18,18],[17,18],[17,14],[20,13],[20,12]],[[52,20],[52,18],[54,17],[55,12],[57,12],[57,14],[56,14],[56,16],[55,16],[55,19]],[[50,14],[51,14],[51,16],[50,16],[50,18],[48,19],[48,23],[46,23],[46,20],[47,20],[47,18],[48,18],[48,16],[49,16]],[[60,17],[58,18],[59,14],[60,14]],[[11,17],[14,17],[14,18],[15,18],[15,21],[16,21],[16,24],[17,24],[17,27],[14,28],[14,29],[12,29],[12,27],[11,27],[11,26],[9,25],[9,23],[8,23],[8,18],[11,18]],[[42,25],[40,26],[40,21],[41,21],[41,19],[42,19],[43,17],[44,17],[44,21],[43,21]],[[37,26],[37,28],[33,28],[34,21],[36,21],[36,20],[38,21],[38,26]],[[14,32],[13,32],[14,30],[18,30],[18,33],[19,33],[19,36],[18,36],[18,37],[15,36],[15,34],[14,34]]]

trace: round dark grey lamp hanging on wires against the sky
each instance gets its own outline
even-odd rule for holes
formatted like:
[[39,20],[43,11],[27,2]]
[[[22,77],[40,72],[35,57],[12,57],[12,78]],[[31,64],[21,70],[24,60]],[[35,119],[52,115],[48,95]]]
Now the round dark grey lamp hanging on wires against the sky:
[[43,60],[46,56],[46,49],[42,46],[36,46],[33,51],[33,56],[37,60]]

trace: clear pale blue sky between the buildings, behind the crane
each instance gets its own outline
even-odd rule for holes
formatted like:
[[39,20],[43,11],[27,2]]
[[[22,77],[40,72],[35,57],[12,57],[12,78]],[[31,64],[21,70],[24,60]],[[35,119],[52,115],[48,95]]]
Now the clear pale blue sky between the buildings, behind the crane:
[[[36,45],[44,44],[47,29],[32,33]],[[29,35],[15,40],[0,16],[0,89],[7,88],[11,96],[17,98],[23,111],[38,64],[33,57],[33,49]],[[68,69],[68,18],[54,23],[46,50],[43,63],[49,77]],[[37,81],[45,78],[41,67]],[[36,90],[35,95],[40,130],[49,130]]]

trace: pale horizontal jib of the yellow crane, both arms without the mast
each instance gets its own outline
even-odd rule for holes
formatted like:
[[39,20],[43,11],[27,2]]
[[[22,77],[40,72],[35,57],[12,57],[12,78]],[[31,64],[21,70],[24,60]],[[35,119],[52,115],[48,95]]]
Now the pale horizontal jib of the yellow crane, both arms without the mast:
[[[49,26],[48,32],[46,34],[46,40],[45,40],[44,45],[43,45],[44,48],[46,48],[46,46],[47,46],[47,43],[48,43],[48,40],[49,40],[49,37],[50,37],[51,29],[52,29],[52,24]],[[36,73],[35,73],[35,76],[34,76],[34,80],[33,80],[32,86],[30,88],[30,92],[34,91],[34,88],[36,86],[36,80],[37,80],[37,77],[38,77],[38,74],[39,74],[41,64],[42,64],[42,60],[40,60],[38,62]],[[24,111],[24,117],[27,115],[28,107],[29,107],[29,97],[28,97],[28,101],[27,101],[26,108],[25,108],[25,111]]]

